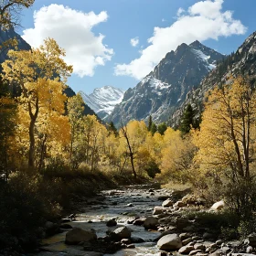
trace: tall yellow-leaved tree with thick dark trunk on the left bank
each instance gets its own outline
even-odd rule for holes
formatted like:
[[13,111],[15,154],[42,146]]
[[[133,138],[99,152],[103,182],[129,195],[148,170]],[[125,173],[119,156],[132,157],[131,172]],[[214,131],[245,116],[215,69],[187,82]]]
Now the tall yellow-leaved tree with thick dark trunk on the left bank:
[[[35,126],[42,105],[49,101],[44,97],[53,88],[64,90],[72,67],[62,59],[65,51],[54,39],[45,40],[45,45],[32,50],[9,50],[9,59],[2,64],[4,79],[17,83],[22,91],[19,101],[29,114],[28,167],[35,169]],[[53,95],[52,99],[56,99]],[[56,106],[53,106],[56,108]]]

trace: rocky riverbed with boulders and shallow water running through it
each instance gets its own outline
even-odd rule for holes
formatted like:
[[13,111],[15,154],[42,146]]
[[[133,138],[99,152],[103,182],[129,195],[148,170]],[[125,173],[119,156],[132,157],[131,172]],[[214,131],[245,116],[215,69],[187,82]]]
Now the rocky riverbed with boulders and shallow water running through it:
[[[33,256],[253,255],[256,236],[224,243],[213,230],[198,227],[191,212],[208,209],[189,192],[146,186],[102,191],[63,219],[61,232],[42,240]],[[223,207],[220,201],[211,210]]]

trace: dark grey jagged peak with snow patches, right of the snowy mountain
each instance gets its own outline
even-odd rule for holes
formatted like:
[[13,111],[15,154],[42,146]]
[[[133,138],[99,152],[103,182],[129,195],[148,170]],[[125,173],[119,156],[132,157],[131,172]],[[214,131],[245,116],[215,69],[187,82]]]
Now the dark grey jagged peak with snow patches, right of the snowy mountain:
[[107,118],[119,126],[132,119],[165,122],[181,106],[188,91],[196,87],[224,56],[195,41],[182,44],[166,54],[155,69],[133,89],[125,91],[123,101]]

